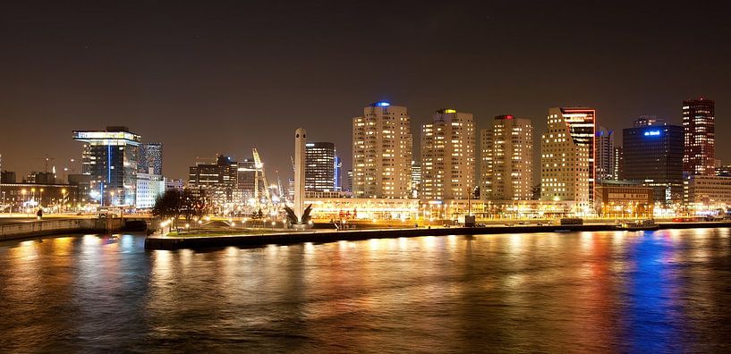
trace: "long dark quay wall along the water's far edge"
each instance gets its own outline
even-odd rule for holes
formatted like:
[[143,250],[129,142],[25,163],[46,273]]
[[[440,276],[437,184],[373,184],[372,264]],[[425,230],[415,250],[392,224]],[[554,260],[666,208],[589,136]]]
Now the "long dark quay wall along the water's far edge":
[[[696,229],[731,227],[731,222],[660,223],[660,229]],[[485,235],[498,233],[537,232],[599,232],[616,231],[613,224],[586,225],[517,225],[489,227],[439,227],[390,230],[345,230],[282,232],[268,234],[227,235],[212,237],[185,237],[152,235],[145,240],[145,249],[209,249],[228,246],[261,247],[270,244],[286,245],[304,242],[335,242],[339,240],[394,239],[400,237]]]

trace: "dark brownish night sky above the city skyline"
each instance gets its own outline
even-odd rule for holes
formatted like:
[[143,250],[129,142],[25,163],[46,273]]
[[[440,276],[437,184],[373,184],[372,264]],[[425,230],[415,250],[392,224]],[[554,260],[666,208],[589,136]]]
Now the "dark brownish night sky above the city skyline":
[[479,127],[529,117],[540,134],[548,107],[588,105],[621,131],[640,114],[680,122],[681,101],[704,96],[731,162],[722,3],[12,3],[0,8],[0,153],[18,173],[80,157],[72,130],[127,125],[165,144],[168,177],[258,147],[285,180],[296,128],[349,166],[351,118],[379,99],[409,107],[418,142],[447,106]]

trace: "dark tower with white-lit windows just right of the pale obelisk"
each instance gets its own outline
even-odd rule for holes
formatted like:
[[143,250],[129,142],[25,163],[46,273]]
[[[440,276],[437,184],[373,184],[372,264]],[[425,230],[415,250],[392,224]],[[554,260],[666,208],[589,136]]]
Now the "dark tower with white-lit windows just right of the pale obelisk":
[[335,190],[335,144],[331,142],[308,142],[304,147],[304,190]]

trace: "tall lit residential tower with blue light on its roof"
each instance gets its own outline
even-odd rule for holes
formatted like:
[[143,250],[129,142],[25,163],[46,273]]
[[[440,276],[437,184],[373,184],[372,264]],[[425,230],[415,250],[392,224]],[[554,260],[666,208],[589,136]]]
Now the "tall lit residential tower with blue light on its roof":
[[353,197],[409,198],[412,133],[406,107],[377,102],[353,118]]

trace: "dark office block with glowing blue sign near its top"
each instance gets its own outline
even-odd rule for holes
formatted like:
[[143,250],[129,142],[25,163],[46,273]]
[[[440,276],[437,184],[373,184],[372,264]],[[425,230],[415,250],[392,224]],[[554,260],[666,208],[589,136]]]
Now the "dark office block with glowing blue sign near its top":
[[[647,125],[642,125],[647,124]],[[623,131],[625,180],[654,188],[657,202],[683,198],[683,127],[641,117]]]

